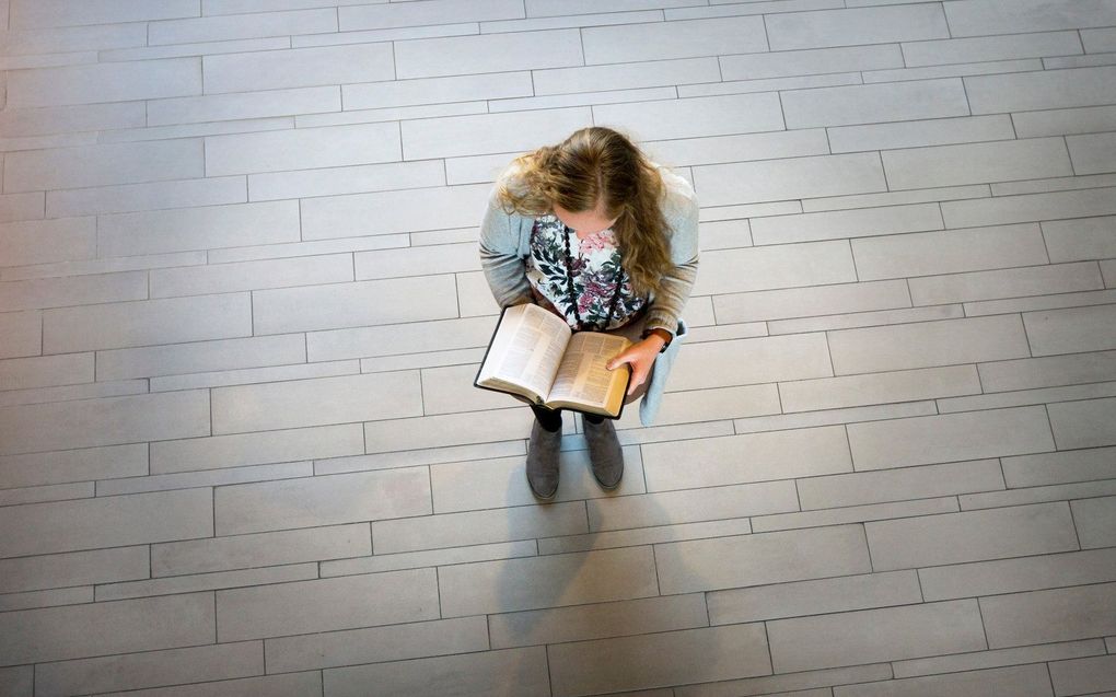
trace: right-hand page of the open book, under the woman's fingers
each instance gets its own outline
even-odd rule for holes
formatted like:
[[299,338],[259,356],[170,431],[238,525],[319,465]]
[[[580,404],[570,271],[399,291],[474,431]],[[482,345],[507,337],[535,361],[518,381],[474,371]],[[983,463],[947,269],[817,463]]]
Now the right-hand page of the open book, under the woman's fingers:
[[609,370],[606,366],[629,346],[632,342],[624,337],[598,331],[575,333],[548,401],[617,414],[624,401],[628,371],[627,368]]

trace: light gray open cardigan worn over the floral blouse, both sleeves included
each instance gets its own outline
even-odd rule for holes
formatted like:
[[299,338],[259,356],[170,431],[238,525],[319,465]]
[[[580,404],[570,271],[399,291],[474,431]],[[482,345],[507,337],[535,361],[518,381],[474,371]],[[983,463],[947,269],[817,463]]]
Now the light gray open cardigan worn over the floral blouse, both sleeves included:
[[[671,235],[671,260],[674,268],[662,280],[658,293],[648,303],[646,328],[658,327],[674,336],[666,351],[655,359],[647,391],[639,404],[639,422],[654,423],[662,403],[666,378],[686,336],[682,309],[690,298],[698,277],[698,200],[690,183],[681,176],[660,168],[666,185],[662,211]],[[501,176],[489,197],[488,211],[481,223],[481,267],[492,296],[501,308],[521,302],[532,302],[531,287],[527,280],[527,258],[530,255],[531,228],[535,217],[503,210],[497,192],[501,183],[516,184],[517,172],[510,168]]]

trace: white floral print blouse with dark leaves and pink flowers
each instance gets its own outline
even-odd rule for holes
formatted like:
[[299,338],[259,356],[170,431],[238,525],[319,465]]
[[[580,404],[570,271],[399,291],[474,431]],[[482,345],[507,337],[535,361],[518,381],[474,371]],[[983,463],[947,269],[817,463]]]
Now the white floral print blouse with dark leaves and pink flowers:
[[[566,275],[566,241],[569,239],[569,270],[574,277],[574,298],[569,296]],[[603,230],[580,240],[556,215],[548,214],[535,220],[531,228],[531,254],[527,259],[527,280],[537,300],[543,307],[550,306],[564,317],[573,329],[616,329],[631,321],[647,302],[646,298],[632,291],[632,281],[620,267],[620,250],[612,230]],[[616,283],[623,283],[612,320],[608,309],[616,292]],[[576,310],[575,313],[575,303]],[[581,326],[577,326],[577,316]]]

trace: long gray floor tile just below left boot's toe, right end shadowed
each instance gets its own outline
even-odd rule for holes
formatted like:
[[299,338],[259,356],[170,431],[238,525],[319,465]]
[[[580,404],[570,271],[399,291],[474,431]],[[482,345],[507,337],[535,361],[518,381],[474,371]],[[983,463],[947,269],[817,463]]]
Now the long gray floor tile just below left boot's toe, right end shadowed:
[[394,554],[585,532],[585,504],[573,501],[375,521],[372,543],[376,554]]

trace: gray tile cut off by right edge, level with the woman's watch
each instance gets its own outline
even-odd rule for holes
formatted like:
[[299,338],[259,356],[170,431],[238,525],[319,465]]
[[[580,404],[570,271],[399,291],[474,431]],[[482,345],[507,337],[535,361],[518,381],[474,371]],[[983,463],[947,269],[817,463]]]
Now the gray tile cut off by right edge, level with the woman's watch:
[[1023,313],[1032,356],[1116,348],[1116,306]]

